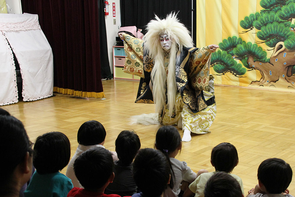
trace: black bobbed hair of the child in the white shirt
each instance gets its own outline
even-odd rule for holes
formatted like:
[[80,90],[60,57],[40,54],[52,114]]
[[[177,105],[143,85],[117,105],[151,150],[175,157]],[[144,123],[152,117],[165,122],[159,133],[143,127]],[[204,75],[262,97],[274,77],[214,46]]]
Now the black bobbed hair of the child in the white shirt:
[[91,146],[102,143],[106,138],[106,130],[98,121],[87,121],[83,123],[77,134],[78,143]]

